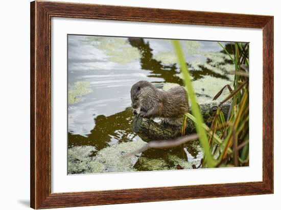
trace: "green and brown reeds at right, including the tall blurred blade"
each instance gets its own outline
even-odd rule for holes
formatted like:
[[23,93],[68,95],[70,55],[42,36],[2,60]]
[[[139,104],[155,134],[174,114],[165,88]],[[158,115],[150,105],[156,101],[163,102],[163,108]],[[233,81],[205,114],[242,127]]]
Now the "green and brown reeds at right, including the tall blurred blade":
[[[186,117],[194,121],[196,131],[199,135],[200,144],[203,147],[203,167],[231,167],[249,165],[249,44],[231,43],[231,51],[226,50],[218,42],[223,51],[229,56],[235,65],[235,79],[233,89],[229,85],[222,87],[222,90],[214,96],[217,99],[227,87],[229,95],[221,101],[213,116],[210,127],[204,124],[196,95],[192,86],[188,65],[186,65],[180,42],[173,40],[175,52],[178,57],[183,82],[188,91],[191,101],[191,113]],[[231,102],[227,116],[224,116],[220,105]],[[184,126],[182,134],[184,134]]]

